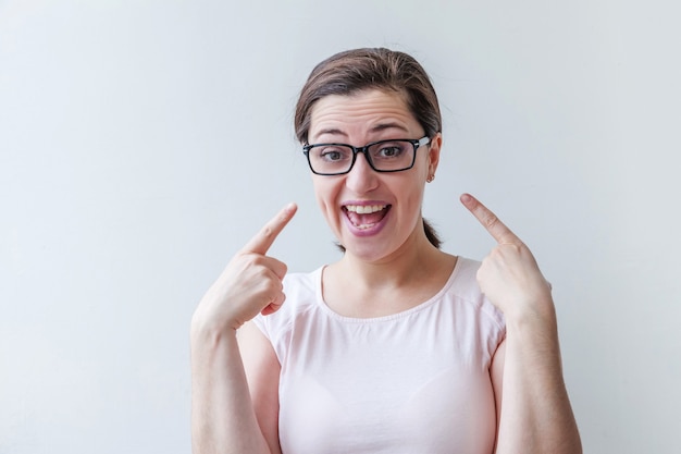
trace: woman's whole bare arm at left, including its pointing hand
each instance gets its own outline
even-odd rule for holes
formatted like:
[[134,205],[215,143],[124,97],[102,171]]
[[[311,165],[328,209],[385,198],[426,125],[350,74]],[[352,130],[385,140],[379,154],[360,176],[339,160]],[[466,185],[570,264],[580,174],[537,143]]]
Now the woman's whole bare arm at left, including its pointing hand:
[[[262,334],[257,338],[251,328],[239,330],[239,338],[244,338],[239,348],[237,330],[258,312],[271,314],[284,303],[282,279],[286,266],[265,254],[295,211],[295,206],[282,210],[232,259],[194,314],[190,341],[195,454],[278,453],[278,440],[274,440],[276,433],[272,433],[272,421],[267,416],[271,418],[272,412],[261,410],[262,403],[268,402],[261,398],[263,390],[272,388],[255,381],[269,373],[252,372],[260,366],[273,367],[272,359],[276,358],[268,341]],[[251,370],[248,378],[245,363]],[[256,404],[251,391],[257,396]]]

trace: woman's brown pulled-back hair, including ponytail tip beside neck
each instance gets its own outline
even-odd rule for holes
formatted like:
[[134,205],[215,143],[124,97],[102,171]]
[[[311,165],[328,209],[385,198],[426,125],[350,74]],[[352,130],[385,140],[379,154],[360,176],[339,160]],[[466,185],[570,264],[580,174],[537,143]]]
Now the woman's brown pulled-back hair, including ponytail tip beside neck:
[[[312,70],[296,105],[294,124],[298,140],[308,143],[311,111],[318,100],[329,95],[348,96],[371,88],[403,94],[425,135],[433,137],[442,132],[437,95],[421,64],[404,52],[366,48],[336,53]],[[431,244],[439,247],[442,241],[425,219],[423,229]]]

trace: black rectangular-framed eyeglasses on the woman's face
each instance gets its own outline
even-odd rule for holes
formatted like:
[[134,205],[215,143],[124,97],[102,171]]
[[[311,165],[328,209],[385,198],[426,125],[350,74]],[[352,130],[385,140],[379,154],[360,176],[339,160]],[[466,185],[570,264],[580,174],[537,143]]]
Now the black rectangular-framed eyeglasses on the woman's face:
[[372,142],[363,147],[347,144],[312,144],[302,147],[310,170],[318,175],[343,175],[352,170],[357,154],[362,152],[376,172],[400,172],[413,167],[417,149],[431,138],[397,138]]

